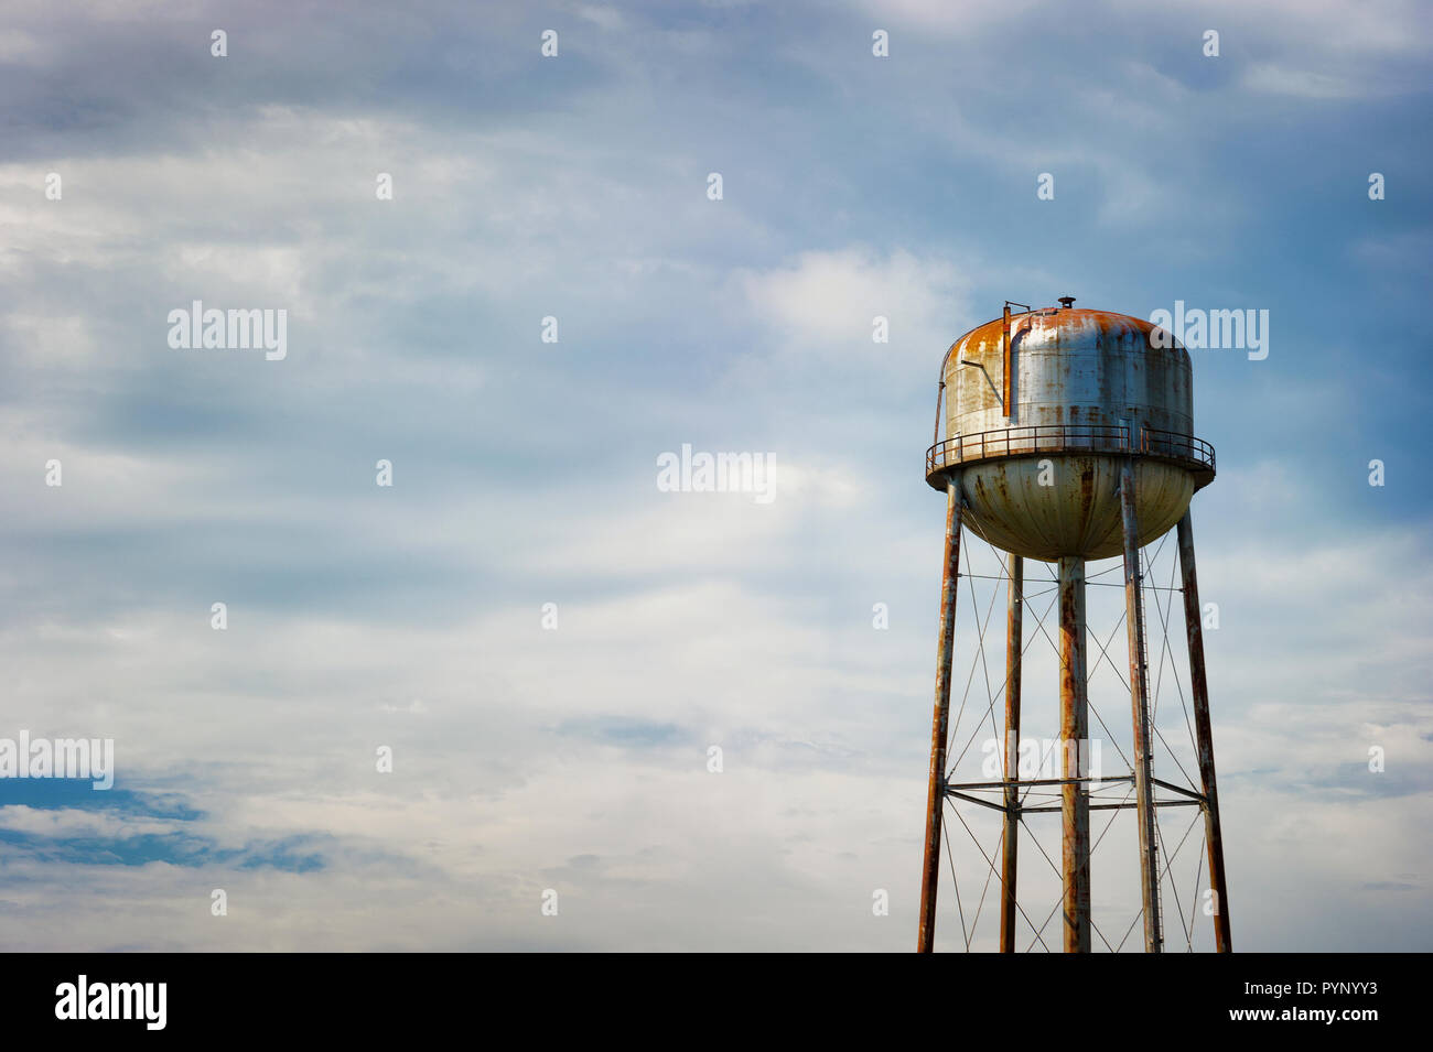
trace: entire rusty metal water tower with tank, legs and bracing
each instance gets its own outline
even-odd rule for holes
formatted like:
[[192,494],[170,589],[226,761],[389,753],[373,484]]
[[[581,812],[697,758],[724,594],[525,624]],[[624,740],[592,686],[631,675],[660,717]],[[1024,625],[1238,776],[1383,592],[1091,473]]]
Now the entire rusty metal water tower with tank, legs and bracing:
[[[1059,303],[1032,311],[1007,301],[1002,318],[957,339],[941,362],[926,481],[946,494],[946,560],[917,948],[930,952],[934,946],[943,814],[946,803],[959,797],[954,803],[1003,812],[1002,847],[992,853],[999,857],[986,859],[992,875],[999,863],[1000,950],[1015,950],[1019,837],[1029,810],[1060,814],[1063,949],[1092,949],[1089,771],[1080,769],[1076,749],[1062,749],[1059,779],[1025,780],[1012,770],[1013,743],[1020,736],[1025,560],[1058,565],[1059,740],[1068,744],[1088,739],[1085,562],[1122,555],[1134,757],[1128,776],[1102,780],[1128,781],[1135,799],[1098,806],[1135,812],[1146,952],[1161,952],[1165,942],[1155,812],[1165,804],[1202,810],[1215,949],[1227,952],[1228,896],[1189,522],[1192,495],[1214,479],[1214,448],[1194,435],[1189,354],[1139,318],[1075,309],[1070,296]],[[1005,763],[999,781],[954,783],[947,774],[963,528],[1005,552],[1006,561]],[[1178,530],[1191,737],[1197,739],[1199,786],[1191,789],[1156,779],[1152,764],[1141,547],[1171,528]],[[1058,792],[1059,806],[1023,806],[1022,793],[1036,784],[1050,796]],[[1158,797],[1159,790],[1165,799]],[[1178,792],[1171,796],[1168,790]]]

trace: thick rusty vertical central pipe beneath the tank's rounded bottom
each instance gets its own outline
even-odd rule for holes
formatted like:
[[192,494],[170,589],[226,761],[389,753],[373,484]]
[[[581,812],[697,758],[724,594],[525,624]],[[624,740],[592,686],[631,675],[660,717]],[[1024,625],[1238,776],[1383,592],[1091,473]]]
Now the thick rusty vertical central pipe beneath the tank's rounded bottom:
[[1089,739],[1085,684],[1085,560],[1060,557],[1060,837],[1065,952],[1089,953]]

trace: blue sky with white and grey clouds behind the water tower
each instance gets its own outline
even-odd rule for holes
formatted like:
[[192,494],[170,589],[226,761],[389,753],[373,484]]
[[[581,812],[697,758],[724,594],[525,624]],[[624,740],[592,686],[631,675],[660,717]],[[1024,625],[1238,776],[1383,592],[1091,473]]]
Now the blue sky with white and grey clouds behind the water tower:
[[911,949],[937,366],[1062,295],[1268,311],[1192,352],[1234,945],[1433,949],[1426,6],[0,6],[0,737],[116,756],[0,781],[6,949]]

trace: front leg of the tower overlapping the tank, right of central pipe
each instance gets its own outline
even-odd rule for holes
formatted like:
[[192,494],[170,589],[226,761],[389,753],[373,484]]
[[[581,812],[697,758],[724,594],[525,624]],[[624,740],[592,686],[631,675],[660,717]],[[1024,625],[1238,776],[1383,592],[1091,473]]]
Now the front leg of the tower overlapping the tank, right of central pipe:
[[1126,459],[1119,475],[1119,505],[1125,541],[1125,625],[1129,638],[1129,710],[1135,741],[1135,807],[1139,822],[1139,897],[1145,913],[1145,952],[1164,949],[1159,912],[1159,850],[1155,837],[1154,769],[1149,740],[1149,676],[1145,658],[1145,613],[1139,571],[1139,522],[1134,464]]

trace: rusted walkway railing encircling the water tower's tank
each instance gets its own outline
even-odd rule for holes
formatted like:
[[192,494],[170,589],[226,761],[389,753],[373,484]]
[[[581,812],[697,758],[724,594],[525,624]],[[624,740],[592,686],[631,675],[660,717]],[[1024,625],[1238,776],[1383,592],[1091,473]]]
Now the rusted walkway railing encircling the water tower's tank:
[[954,464],[1039,452],[1165,457],[1214,471],[1214,447],[1202,438],[1149,427],[1141,427],[1134,439],[1129,432],[1128,427],[1113,424],[1030,424],[1022,428],[954,435],[926,451],[926,475]]

